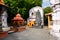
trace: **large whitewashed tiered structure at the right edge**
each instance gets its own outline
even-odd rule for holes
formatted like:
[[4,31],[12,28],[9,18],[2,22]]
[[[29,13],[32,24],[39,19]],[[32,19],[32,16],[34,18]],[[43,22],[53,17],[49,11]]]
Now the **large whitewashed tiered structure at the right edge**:
[[53,9],[52,20],[53,26],[50,34],[59,37],[60,36],[60,0],[50,0],[51,7]]

